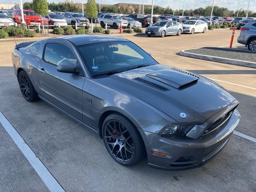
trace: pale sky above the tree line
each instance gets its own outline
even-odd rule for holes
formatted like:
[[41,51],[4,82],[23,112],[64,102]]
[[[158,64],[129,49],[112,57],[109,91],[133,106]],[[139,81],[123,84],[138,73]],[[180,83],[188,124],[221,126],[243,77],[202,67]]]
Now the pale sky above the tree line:
[[[0,3],[9,3],[12,4],[12,1],[14,3],[19,3],[20,0],[0,0]],[[31,2],[32,0],[22,0],[22,2]],[[75,3],[82,2],[82,0],[73,0]],[[116,4],[116,3],[140,3],[140,0],[96,0],[97,3],[101,1],[102,4]],[[213,0],[185,0],[185,10],[186,9],[195,9],[199,7],[205,7],[208,5],[212,5]],[[48,0],[48,2],[64,2],[64,0]],[[84,3],[87,1],[84,0]],[[141,3],[143,0],[141,0]],[[184,0],[176,0],[175,2],[175,10],[182,9]],[[248,6],[248,0],[215,0],[214,5],[220,6],[220,7],[226,7],[230,10],[237,10],[238,8],[238,2],[241,2],[240,8],[247,9]],[[152,0],[144,0],[145,4],[152,4]],[[173,0],[154,0],[154,5],[166,7],[170,6],[170,8],[173,9],[174,2]],[[250,10],[256,11],[256,0],[251,0],[250,2]]]

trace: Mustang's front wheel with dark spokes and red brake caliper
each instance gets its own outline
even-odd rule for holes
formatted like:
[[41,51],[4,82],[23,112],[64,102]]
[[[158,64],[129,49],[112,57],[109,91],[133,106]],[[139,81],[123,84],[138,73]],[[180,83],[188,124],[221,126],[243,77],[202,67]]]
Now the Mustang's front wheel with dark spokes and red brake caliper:
[[133,166],[146,155],[140,132],[125,116],[110,114],[103,122],[102,136],[110,156],[124,166]]

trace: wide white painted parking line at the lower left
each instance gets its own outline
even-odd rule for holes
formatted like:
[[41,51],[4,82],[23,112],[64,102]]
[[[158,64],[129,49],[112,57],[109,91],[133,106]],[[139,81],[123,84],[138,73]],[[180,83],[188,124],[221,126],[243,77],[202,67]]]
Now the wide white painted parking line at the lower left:
[[46,187],[51,192],[65,192],[62,186],[57,182],[57,180],[52,176],[52,174],[47,170],[47,168],[42,164],[42,162],[37,158],[36,154],[31,150],[31,148],[26,144],[20,134],[14,129],[10,122],[5,118],[5,116],[0,112],[0,123],[6,130],[6,132],[11,136],[12,140],[18,146],[20,151],[24,154],[30,165],[37,172],[38,176],[42,179]]

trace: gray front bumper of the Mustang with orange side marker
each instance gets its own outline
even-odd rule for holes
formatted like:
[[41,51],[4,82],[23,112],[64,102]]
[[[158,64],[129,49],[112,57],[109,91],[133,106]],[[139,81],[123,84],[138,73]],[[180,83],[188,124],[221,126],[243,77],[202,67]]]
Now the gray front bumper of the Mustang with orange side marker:
[[[166,170],[184,170],[204,165],[218,154],[228,143],[232,132],[240,121],[240,114],[234,110],[230,119],[220,129],[200,139],[186,136],[161,136],[139,130],[148,155],[148,165]],[[152,150],[167,156],[153,154]]]

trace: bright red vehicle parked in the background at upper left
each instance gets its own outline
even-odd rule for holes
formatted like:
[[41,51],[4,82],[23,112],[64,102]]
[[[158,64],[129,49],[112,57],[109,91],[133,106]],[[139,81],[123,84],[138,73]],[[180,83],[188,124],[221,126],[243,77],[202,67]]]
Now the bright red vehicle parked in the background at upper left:
[[[42,25],[41,16],[36,14],[34,11],[23,10],[23,14],[24,14],[24,21],[26,22],[27,25],[36,25],[38,23]],[[21,24],[22,18],[21,18],[20,9],[16,9],[12,17],[14,22]]]

